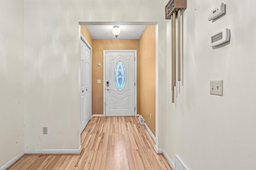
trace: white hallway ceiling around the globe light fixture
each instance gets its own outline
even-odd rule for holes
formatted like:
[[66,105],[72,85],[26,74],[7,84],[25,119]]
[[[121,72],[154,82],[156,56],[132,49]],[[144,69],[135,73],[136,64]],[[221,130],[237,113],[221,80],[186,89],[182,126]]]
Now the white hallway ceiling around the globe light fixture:
[[118,25],[121,32],[116,38],[114,25],[86,25],[92,39],[140,39],[147,25]]

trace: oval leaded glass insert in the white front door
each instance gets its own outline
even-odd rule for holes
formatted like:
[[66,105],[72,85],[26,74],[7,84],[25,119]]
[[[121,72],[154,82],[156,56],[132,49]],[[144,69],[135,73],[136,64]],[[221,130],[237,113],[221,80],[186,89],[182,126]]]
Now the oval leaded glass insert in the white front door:
[[115,82],[118,90],[123,90],[125,85],[125,78],[126,78],[126,70],[124,68],[124,63],[122,63],[122,61],[118,61],[116,63],[116,68],[115,68]]

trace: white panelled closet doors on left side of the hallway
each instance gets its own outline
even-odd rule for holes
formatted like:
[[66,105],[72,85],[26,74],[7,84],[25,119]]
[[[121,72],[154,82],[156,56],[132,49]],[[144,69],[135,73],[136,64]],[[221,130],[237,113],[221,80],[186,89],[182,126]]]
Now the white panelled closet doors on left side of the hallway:
[[91,50],[81,39],[81,117],[80,133],[90,120],[90,56]]

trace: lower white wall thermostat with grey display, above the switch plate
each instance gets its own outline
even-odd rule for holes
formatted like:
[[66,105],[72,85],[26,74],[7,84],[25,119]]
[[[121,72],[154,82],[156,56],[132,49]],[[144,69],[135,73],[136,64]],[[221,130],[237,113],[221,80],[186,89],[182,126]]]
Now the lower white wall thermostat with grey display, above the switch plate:
[[216,45],[223,44],[230,39],[230,29],[224,28],[221,31],[211,35],[209,37],[209,46],[213,47]]

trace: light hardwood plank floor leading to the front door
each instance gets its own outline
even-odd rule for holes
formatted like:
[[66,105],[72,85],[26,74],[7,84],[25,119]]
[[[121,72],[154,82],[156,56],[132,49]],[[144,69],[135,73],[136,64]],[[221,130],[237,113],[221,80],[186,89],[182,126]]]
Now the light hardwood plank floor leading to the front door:
[[80,155],[25,155],[9,170],[171,170],[137,117],[93,117]]

